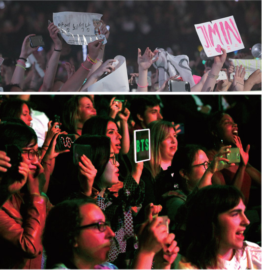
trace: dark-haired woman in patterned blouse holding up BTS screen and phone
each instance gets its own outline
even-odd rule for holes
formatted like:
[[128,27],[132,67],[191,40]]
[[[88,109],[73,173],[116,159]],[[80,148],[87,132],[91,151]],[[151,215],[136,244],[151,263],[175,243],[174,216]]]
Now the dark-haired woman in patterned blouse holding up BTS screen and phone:
[[[111,139],[102,135],[82,135],[75,144],[92,148],[92,157],[89,159],[83,155],[78,164],[82,195],[91,196],[92,188],[97,190],[97,205],[104,210],[116,233],[111,240],[109,262],[125,268],[125,260],[132,259],[136,244],[131,207],[138,206],[144,199],[145,184],[140,180],[142,168],[134,177],[130,175],[124,180],[116,197],[109,191],[119,181],[119,163]],[[128,239],[132,243],[130,246],[127,245]]]

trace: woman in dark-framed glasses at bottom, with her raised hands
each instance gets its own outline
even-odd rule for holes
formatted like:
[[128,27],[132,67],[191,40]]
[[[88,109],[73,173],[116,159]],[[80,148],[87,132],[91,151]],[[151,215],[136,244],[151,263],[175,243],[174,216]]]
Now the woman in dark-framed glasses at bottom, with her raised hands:
[[[169,234],[160,222],[161,217],[157,217],[141,226],[133,269],[151,269],[153,259],[157,269],[170,269],[179,249],[174,234]],[[110,223],[94,200],[63,201],[49,212],[46,220],[43,245],[47,269],[117,269],[106,262],[114,237]],[[163,245],[165,261],[161,256],[155,257]]]

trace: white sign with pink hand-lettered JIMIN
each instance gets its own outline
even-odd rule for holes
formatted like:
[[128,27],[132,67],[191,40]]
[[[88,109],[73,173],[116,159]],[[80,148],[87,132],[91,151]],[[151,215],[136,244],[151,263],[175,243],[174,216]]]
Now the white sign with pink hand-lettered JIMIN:
[[198,24],[195,28],[207,57],[221,55],[221,48],[227,53],[245,48],[233,16]]

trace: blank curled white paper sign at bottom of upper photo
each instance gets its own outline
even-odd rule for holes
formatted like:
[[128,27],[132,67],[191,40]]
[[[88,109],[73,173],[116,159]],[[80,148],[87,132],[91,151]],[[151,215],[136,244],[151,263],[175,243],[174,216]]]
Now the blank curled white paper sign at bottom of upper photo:
[[115,71],[89,86],[88,92],[129,92],[125,58],[118,55],[114,59],[118,61]]

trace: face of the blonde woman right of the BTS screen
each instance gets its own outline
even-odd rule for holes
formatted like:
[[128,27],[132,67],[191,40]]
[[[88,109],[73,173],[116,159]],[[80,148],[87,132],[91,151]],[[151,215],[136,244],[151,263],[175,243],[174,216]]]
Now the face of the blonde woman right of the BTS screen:
[[160,144],[160,155],[164,161],[172,161],[174,154],[177,150],[177,139],[174,128],[170,128],[168,136]]

